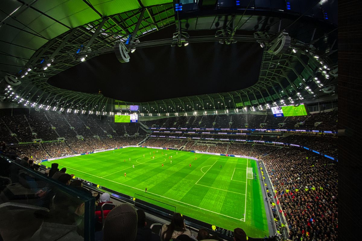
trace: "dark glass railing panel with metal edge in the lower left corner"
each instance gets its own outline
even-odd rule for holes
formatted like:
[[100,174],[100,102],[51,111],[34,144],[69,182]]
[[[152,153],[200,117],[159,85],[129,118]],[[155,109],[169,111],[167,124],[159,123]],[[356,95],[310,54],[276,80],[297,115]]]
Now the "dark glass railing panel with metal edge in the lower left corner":
[[22,159],[0,154],[0,165],[4,240],[94,240],[95,201],[89,191],[48,178]]

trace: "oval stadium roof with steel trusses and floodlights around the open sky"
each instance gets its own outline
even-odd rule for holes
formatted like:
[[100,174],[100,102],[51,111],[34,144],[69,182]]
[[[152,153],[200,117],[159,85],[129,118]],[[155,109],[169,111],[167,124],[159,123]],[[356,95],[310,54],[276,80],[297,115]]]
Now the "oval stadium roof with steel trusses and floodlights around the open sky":
[[[240,6],[235,1],[214,2],[217,4],[210,6],[186,0],[3,1],[0,75],[5,77],[1,82],[5,92],[0,92],[0,99],[36,108],[94,113],[115,111],[118,104],[135,104],[155,113],[166,106],[215,109],[217,102],[230,103],[228,108],[265,108],[266,104],[298,103],[336,91],[334,1],[295,0],[289,7],[283,0],[240,1]],[[183,3],[184,9],[176,11],[175,3]],[[142,41],[144,35],[172,25],[177,29],[173,36]],[[130,51],[186,42],[260,43],[264,53],[257,83],[239,91],[129,103],[59,89],[47,82],[81,63],[83,57],[114,52],[120,43]]]

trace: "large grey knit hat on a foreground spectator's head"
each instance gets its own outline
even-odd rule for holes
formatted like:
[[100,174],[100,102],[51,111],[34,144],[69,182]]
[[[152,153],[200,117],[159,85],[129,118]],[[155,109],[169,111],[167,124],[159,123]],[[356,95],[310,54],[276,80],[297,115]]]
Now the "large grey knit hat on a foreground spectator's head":
[[134,241],[137,236],[137,213],[134,206],[122,203],[113,208],[105,220],[104,241]]

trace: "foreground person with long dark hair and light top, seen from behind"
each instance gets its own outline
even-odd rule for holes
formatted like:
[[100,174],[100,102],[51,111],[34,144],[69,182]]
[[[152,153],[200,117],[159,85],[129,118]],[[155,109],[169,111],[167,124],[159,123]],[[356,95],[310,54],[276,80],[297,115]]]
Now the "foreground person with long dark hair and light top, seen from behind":
[[191,237],[190,230],[186,230],[184,219],[181,214],[176,213],[173,215],[170,224],[164,224],[161,230],[161,240],[169,241],[170,239],[177,238],[181,234],[186,234]]

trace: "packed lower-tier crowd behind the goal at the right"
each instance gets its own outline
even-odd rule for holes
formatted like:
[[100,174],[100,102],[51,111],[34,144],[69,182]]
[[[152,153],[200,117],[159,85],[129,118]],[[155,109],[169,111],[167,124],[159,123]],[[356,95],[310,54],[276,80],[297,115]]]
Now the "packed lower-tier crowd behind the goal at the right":
[[299,149],[275,150],[262,158],[292,240],[337,240],[337,163]]

